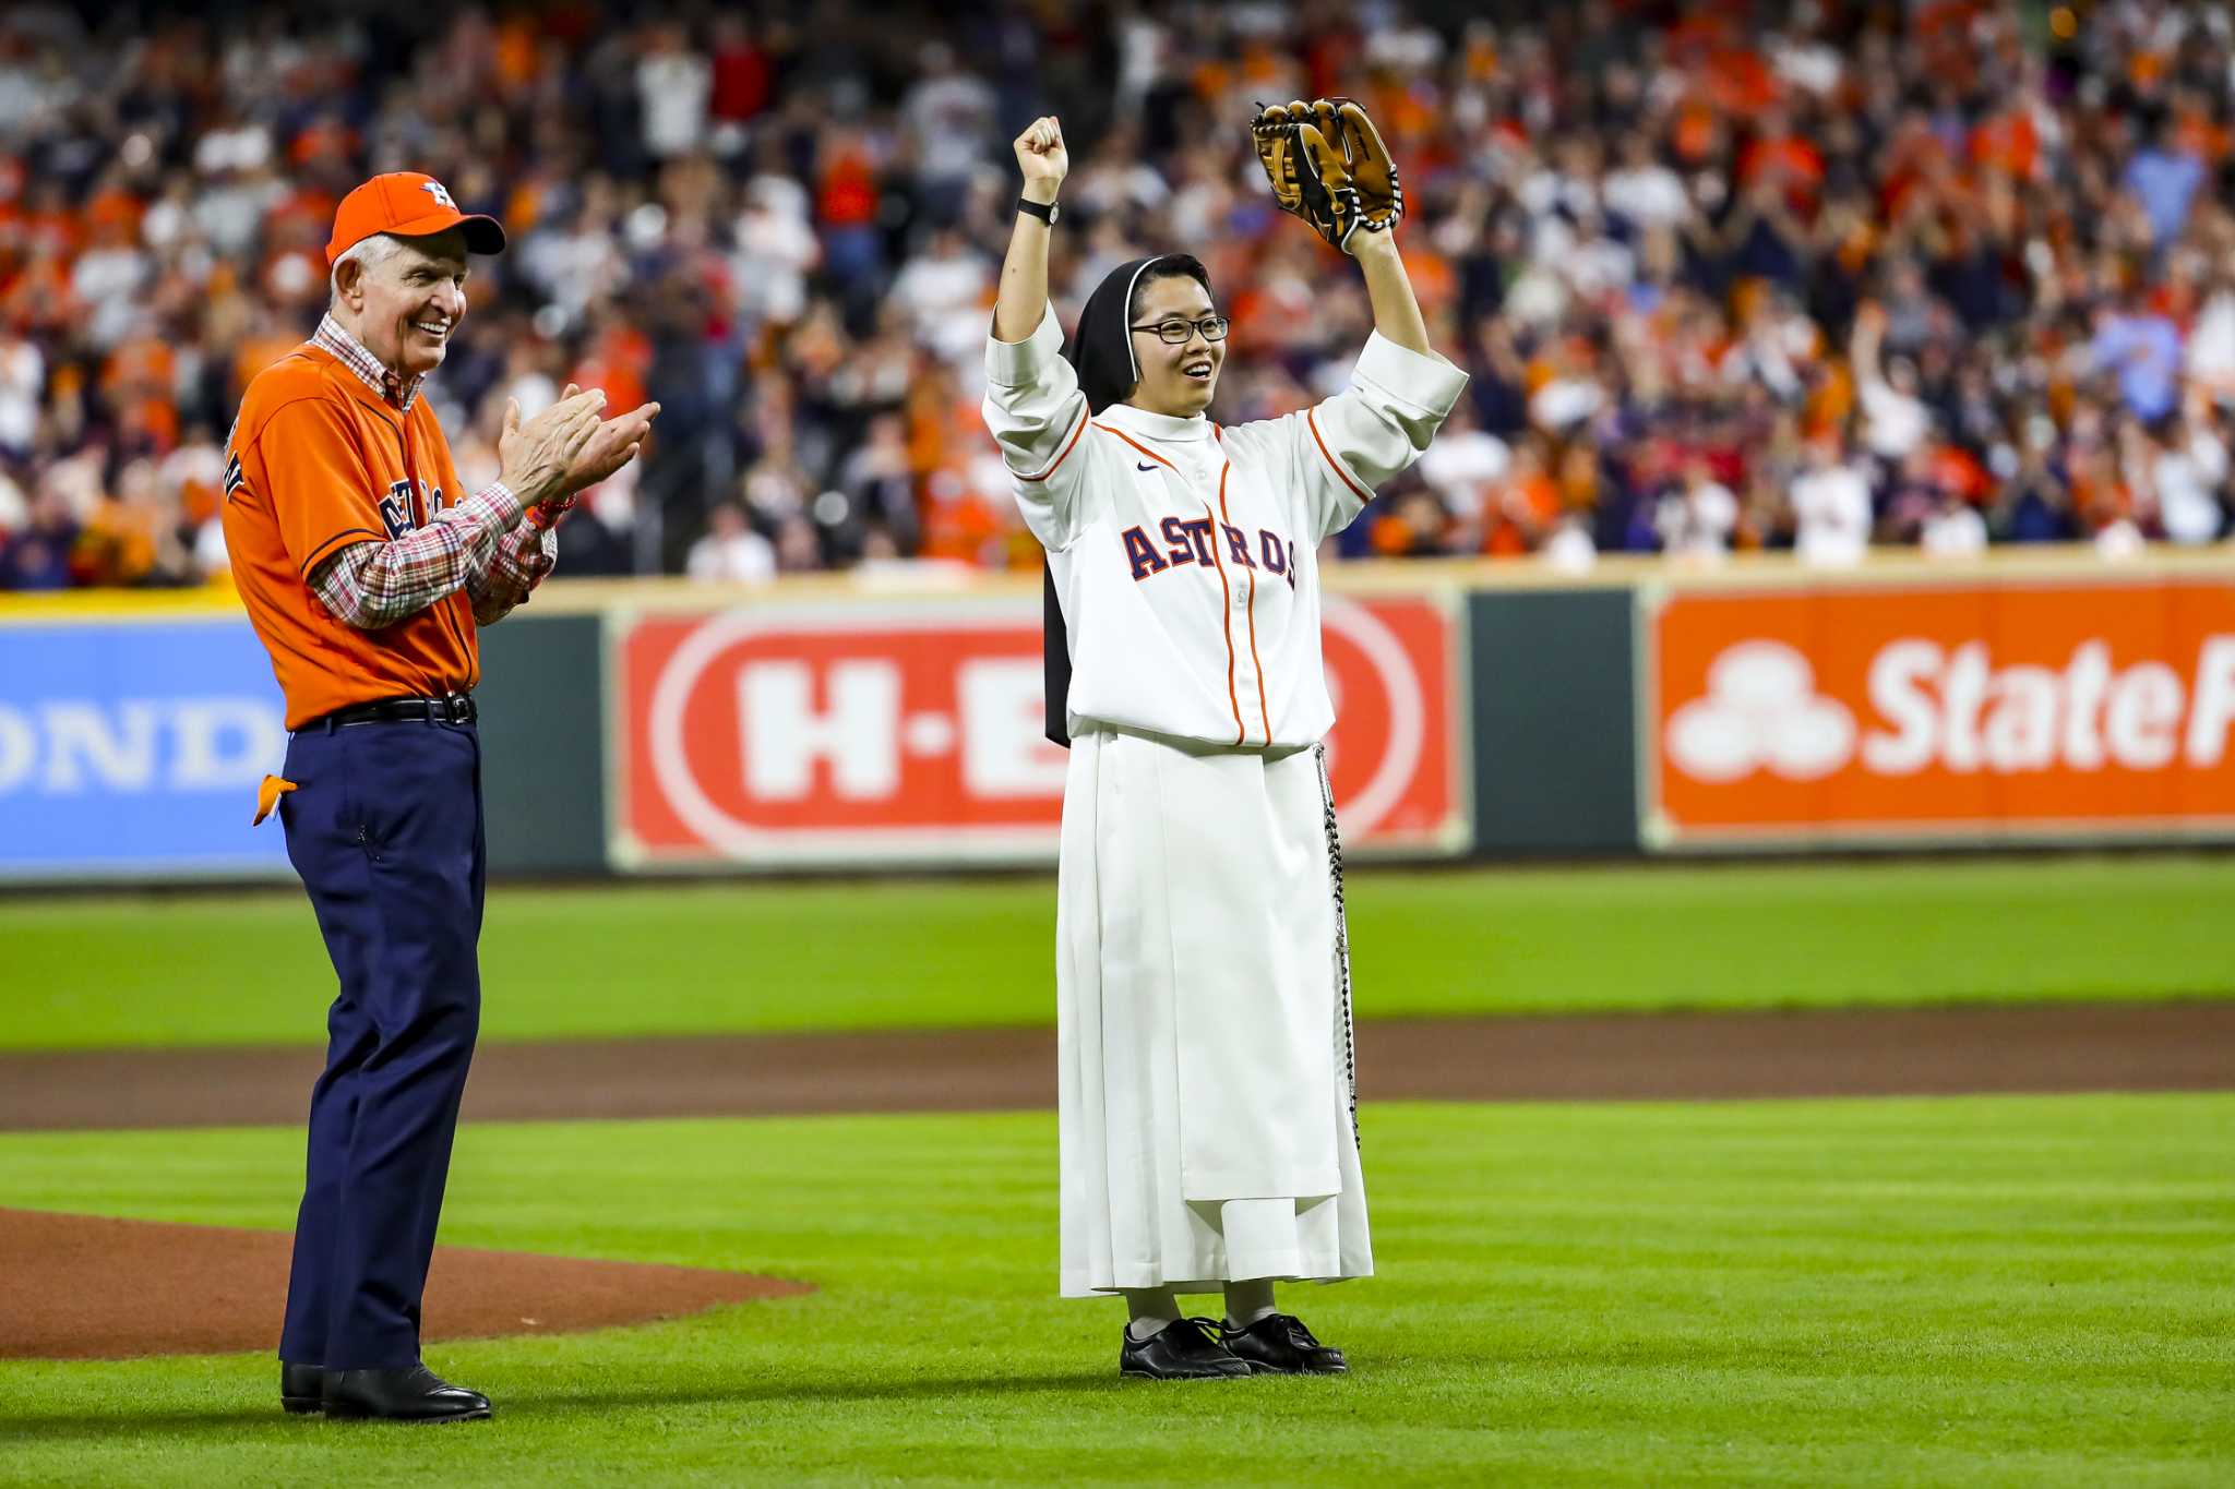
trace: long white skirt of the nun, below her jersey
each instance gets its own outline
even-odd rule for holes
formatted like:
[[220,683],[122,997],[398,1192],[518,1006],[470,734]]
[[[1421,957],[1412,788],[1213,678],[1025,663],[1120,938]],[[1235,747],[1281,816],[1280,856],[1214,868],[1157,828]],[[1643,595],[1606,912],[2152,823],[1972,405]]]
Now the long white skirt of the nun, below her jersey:
[[1370,1277],[1319,750],[1071,741],[1062,1293]]

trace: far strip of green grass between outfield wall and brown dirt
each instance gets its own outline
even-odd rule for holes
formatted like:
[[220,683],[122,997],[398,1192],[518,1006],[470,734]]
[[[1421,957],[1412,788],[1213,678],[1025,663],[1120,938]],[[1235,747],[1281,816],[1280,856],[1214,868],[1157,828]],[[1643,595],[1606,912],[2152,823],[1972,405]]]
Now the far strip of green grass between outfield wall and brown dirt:
[[[2235,857],[1352,875],[1359,1011],[2235,993]],[[496,886],[483,1038],[1053,1022],[1048,880]],[[299,891],[0,900],[0,1047],[317,1043]]]

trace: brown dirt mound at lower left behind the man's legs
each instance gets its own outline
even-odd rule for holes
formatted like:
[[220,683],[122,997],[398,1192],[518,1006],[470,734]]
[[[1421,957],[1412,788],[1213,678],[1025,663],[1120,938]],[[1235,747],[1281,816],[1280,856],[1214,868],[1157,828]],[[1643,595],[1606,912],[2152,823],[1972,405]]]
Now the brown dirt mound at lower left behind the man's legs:
[[[163,1226],[0,1210],[0,1357],[130,1360],[275,1348],[288,1250],[279,1230]],[[440,1246],[427,1339],[648,1324],[720,1304],[814,1293],[695,1266],[581,1261]]]

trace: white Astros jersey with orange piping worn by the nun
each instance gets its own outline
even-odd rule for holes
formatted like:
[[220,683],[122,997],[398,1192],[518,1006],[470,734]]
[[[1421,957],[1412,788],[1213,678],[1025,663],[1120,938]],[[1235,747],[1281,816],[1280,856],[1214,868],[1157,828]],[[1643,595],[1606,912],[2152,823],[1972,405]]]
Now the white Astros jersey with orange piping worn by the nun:
[[1319,654],[1319,540],[1413,464],[1466,373],[1375,333],[1350,386],[1220,429],[1113,404],[1088,417],[1055,306],[986,344],[986,426],[1071,638],[1080,721],[1227,748],[1294,748],[1334,723]]

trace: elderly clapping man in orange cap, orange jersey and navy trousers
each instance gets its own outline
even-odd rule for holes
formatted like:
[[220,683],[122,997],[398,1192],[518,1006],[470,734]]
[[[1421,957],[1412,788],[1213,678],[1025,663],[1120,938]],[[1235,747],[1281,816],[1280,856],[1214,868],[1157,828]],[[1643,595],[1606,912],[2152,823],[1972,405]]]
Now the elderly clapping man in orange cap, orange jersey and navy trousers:
[[467,254],[505,232],[440,181],[373,176],[326,243],[317,335],[248,384],[226,451],[226,549],[286,697],[266,779],[340,978],[279,1335],[288,1411],[474,1420],[420,1364],[420,1293],[481,1018],[476,630],[552,569],[552,522],[628,464],[657,404],[577,393],[505,411],[498,478],[460,498],[420,397],[465,319]]

